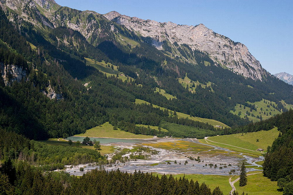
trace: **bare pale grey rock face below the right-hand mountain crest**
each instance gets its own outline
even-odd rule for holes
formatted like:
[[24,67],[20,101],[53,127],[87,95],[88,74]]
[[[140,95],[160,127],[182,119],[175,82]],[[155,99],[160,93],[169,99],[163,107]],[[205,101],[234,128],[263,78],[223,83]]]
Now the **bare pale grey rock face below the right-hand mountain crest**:
[[158,49],[161,49],[160,43],[164,40],[171,44],[185,43],[193,49],[207,52],[216,64],[245,77],[263,80],[263,75],[267,74],[245,45],[215,33],[203,24],[188,26],[172,22],[159,23],[154,20],[121,15],[116,11],[104,16],[117,24],[125,25],[129,30],[139,32],[143,37],[151,37]]

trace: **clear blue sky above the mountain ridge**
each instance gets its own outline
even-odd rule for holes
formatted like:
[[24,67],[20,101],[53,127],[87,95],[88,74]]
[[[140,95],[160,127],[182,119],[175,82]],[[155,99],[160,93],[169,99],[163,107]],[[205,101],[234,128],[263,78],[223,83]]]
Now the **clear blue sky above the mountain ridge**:
[[271,74],[293,75],[293,1],[55,0],[61,6],[177,24],[204,24],[248,47]]

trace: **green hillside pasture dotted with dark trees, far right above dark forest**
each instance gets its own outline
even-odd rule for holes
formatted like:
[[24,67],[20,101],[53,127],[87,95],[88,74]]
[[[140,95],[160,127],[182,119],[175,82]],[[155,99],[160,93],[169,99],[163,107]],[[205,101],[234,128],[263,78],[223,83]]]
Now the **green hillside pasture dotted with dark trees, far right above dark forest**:
[[[268,119],[268,118],[270,118],[270,117],[272,117],[272,116],[274,116],[274,115],[276,115],[276,114],[280,114],[280,112],[279,111],[277,111],[275,108],[273,108],[272,106],[270,106],[270,108],[268,108],[268,105],[270,105],[270,103],[272,103],[272,105],[275,105],[276,106],[276,103],[275,102],[271,102],[271,101],[269,101],[269,100],[265,100],[265,102],[263,102],[265,99],[263,99],[263,100],[261,100],[261,101],[256,101],[256,102],[247,102],[247,103],[249,103],[249,104],[255,104],[255,106],[257,106],[257,108],[256,108],[256,111],[255,110],[252,110],[251,112],[250,112],[250,107],[246,107],[245,109],[244,109],[244,105],[241,105],[241,107],[240,107],[240,104],[236,104],[236,106],[235,106],[235,110],[233,111],[233,110],[231,110],[230,112],[232,113],[232,114],[235,114],[235,115],[239,115],[241,118],[244,118],[245,117],[245,114],[246,114],[246,112],[248,112],[248,113],[250,113],[250,115],[247,115],[247,118],[249,119],[249,120],[253,120],[253,122],[257,122],[257,121],[260,121],[260,119],[259,118],[256,118],[257,116],[259,116],[260,117],[260,115],[262,116],[262,118],[263,118],[263,120],[265,120],[265,119]],[[282,102],[282,103],[285,103],[284,101]],[[286,104],[286,103],[285,103]],[[290,106],[292,106],[292,105],[288,105],[288,104],[286,104],[286,108],[287,109],[289,109],[290,108]],[[262,110],[261,110],[262,109]],[[241,112],[241,114],[239,114],[239,112]],[[282,111],[281,111],[282,112]],[[254,116],[252,116],[252,114],[254,115]],[[267,114],[268,114],[268,116],[267,116]]]

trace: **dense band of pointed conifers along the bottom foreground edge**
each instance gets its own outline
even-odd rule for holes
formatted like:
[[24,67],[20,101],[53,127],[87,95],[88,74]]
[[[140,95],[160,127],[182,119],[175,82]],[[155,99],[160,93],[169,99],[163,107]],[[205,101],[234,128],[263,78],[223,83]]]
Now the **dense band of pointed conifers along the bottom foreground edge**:
[[5,164],[5,171],[16,175],[0,173],[2,194],[223,194],[219,187],[210,189],[205,183],[184,177],[174,179],[172,175],[163,175],[159,178],[140,171],[128,174],[119,170],[92,170],[77,178],[62,172],[42,174],[25,162],[19,162],[16,167]]

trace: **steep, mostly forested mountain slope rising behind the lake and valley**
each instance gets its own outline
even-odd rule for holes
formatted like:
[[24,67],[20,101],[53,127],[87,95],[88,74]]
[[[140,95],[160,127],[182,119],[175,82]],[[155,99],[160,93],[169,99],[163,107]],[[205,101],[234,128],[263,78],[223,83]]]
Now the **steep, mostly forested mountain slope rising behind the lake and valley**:
[[[159,132],[136,124],[164,122],[229,134],[229,129],[174,113],[232,127],[250,122],[230,113],[237,103],[266,99],[282,111],[286,109],[281,100],[293,104],[291,85],[270,74],[263,81],[235,74],[188,44],[154,42],[103,15],[58,8],[54,1],[48,1],[52,9],[46,14],[47,7],[38,1],[17,1],[14,10],[7,2],[0,2],[0,125],[31,139],[79,134],[106,121],[138,134]],[[89,61],[96,68],[88,66]],[[14,69],[26,73],[20,77]],[[176,99],[166,98],[157,88]],[[135,99],[174,112],[137,105]]]

